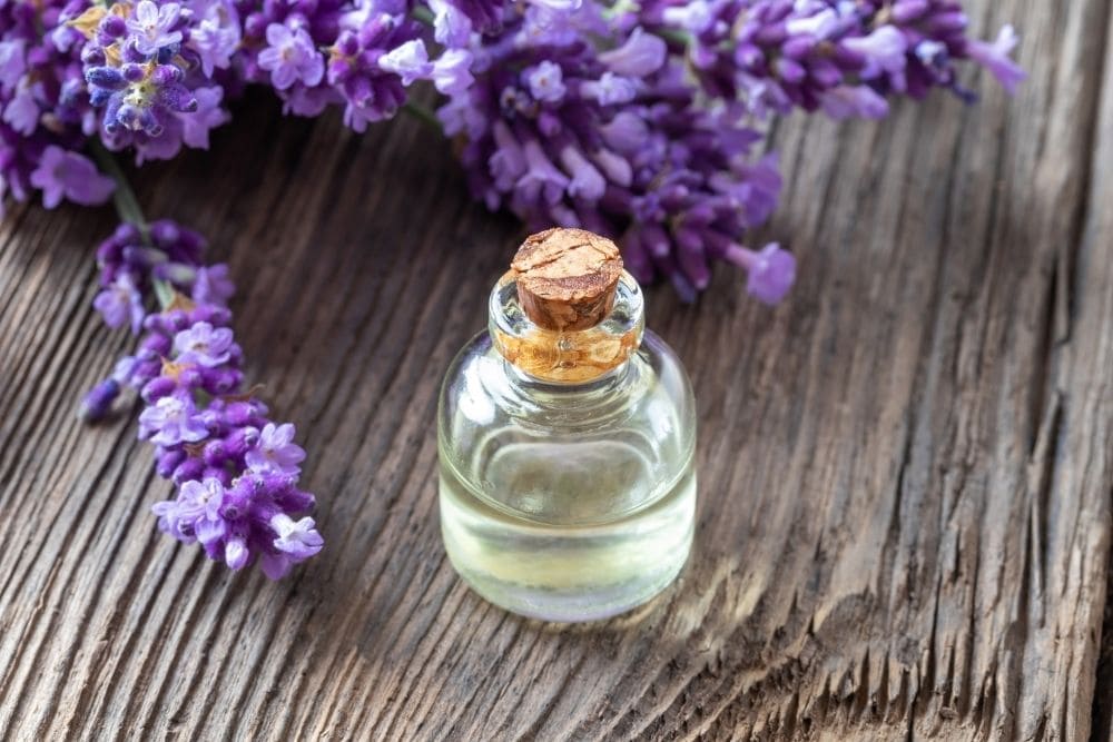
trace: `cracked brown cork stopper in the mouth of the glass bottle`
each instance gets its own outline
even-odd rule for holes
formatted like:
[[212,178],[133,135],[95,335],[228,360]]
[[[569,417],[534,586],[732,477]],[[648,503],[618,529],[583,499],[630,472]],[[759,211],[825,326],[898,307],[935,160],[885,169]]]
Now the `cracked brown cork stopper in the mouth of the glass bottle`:
[[545,329],[573,332],[610,314],[622,258],[605,237],[554,228],[528,237],[510,268],[526,316]]

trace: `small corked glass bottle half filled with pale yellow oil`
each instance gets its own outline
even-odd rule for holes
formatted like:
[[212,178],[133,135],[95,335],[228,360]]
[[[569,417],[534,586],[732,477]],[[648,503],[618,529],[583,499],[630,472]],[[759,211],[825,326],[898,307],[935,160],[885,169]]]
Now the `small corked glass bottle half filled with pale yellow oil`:
[[508,611],[591,621],[664,590],[691,550],[696,410],[644,329],[614,244],[550,229],[491,291],[437,413],[441,528],[456,572]]

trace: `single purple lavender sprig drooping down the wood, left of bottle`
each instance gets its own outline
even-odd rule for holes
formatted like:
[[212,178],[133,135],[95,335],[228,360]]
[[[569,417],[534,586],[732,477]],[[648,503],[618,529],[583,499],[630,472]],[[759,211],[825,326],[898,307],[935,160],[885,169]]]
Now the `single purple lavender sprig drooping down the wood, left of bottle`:
[[[120,210],[136,218],[126,181],[117,192]],[[314,496],[298,487],[305,452],[294,425],[272,421],[254,389],[240,392],[243,350],[227,308],[234,286],[226,266],[201,264],[204,247],[169,220],[126,221],[101,244],[95,304],[109,326],[145,334],[78,414],[101,417],[124,387],[138,389],[139,437],[155,444],[156,472],[177,487],[151,508],[159,530],[232,570],[257,561],[277,580],[324,545],[306,515]],[[161,308],[147,314],[152,294]]]

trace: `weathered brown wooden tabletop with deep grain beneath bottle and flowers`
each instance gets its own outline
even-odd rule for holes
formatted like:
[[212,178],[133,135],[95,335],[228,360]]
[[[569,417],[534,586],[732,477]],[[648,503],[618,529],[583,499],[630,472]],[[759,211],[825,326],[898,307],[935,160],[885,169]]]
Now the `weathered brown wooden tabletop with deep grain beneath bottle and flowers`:
[[521,235],[433,132],[256,96],[139,177],[230,260],[250,376],[307,444],[327,548],[278,584],[156,532],[134,408],[73,418],[130,343],[90,308],[112,216],[12,209],[0,736],[1109,739],[1111,3],[968,4],[1024,36],[1015,100],[972,77],[973,108],[784,123],[791,299],[650,291],[699,399],[698,550],[604,625],[502,613],[441,548],[437,383]]

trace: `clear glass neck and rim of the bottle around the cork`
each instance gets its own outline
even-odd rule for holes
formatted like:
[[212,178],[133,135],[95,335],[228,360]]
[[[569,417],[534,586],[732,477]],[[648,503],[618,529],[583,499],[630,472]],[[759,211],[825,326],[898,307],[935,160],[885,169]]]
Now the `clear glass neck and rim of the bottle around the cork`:
[[529,378],[550,384],[585,384],[626,364],[641,345],[646,307],[641,287],[623,271],[611,311],[594,327],[559,332],[534,324],[518,299],[512,274],[491,291],[489,329],[494,347]]

